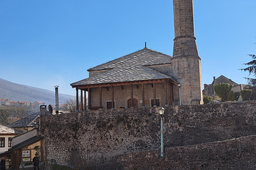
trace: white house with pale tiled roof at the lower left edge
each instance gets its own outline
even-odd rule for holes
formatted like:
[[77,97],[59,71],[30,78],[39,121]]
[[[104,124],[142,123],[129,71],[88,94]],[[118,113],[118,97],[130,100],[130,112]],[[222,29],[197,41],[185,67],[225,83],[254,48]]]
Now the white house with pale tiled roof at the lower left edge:
[[11,138],[22,133],[19,130],[0,124],[0,153],[5,152],[11,147]]

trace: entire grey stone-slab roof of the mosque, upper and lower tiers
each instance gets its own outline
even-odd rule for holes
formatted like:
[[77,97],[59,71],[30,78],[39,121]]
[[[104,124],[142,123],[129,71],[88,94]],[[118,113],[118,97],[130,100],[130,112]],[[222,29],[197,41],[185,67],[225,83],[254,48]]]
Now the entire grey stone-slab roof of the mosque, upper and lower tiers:
[[165,74],[145,67],[145,65],[171,63],[171,59],[172,56],[170,55],[163,54],[149,48],[143,48],[131,54],[88,69],[88,71],[103,69],[109,70],[98,75],[90,76],[89,78],[80,80],[70,85],[76,86],[140,80],[155,80],[164,78],[171,79],[171,77]]

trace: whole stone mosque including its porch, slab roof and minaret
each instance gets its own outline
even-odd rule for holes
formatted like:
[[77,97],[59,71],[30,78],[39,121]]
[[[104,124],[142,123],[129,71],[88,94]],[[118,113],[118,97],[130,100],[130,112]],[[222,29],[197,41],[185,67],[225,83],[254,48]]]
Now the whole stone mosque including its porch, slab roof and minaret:
[[[89,78],[71,84],[76,88],[77,111],[78,90],[80,110],[203,104],[193,0],[173,0],[173,7],[173,56],[145,43],[141,50],[88,69]],[[86,91],[88,109],[83,105]]]

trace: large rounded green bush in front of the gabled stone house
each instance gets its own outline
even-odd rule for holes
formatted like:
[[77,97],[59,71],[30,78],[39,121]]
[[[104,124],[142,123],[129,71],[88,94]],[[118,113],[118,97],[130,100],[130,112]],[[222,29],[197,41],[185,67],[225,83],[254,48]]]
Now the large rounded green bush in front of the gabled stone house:
[[233,84],[218,83],[213,85],[215,93],[221,98],[222,102],[233,101],[235,98],[234,92],[231,91]]

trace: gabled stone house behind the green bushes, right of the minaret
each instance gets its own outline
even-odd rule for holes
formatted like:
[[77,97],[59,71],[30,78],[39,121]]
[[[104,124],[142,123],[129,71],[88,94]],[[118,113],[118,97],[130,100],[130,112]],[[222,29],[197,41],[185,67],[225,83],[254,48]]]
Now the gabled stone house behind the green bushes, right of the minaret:
[[236,82],[232,81],[231,79],[221,75],[218,78],[215,79],[215,77],[213,77],[213,82],[212,84],[204,84],[204,89],[203,89],[203,94],[204,95],[211,95],[213,96],[216,100],[221,100],[217,94],[214,92],[213,89],[213,85],[218,84],[218,83],[229,83],[229,84],[233,84],[233,88],[231,89],[234,92],[240,92],[244,89],[248,89],[250,88],[249,85],[247,84],[237,84]]

